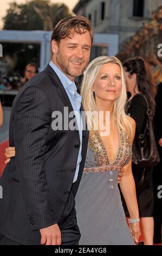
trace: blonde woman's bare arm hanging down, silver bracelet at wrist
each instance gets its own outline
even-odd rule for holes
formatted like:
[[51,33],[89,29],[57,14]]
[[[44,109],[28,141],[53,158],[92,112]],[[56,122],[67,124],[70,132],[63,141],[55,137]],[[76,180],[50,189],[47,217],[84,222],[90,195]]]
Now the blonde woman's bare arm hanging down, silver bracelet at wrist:
[[[132,124],[132,139],[131,139],[131,146],[134,139],[135,134],[135,121],[128,117],[129,121]],[[124,196],[129,215],[131,219],[139,218],[139,211],[138,211],[138,203],[137,203],[137,197],[136,197],[136,191],[135,191],[135,182],[132,174],[132,160],[129,161],[129,163],[124,167],[125,174],[120,181],[120,188],[122,195]],[[139,236],[140,236],[140,225],[139,222],[135,222],[130,224],[131,233],[133,234],[135,242],[138,242]]]

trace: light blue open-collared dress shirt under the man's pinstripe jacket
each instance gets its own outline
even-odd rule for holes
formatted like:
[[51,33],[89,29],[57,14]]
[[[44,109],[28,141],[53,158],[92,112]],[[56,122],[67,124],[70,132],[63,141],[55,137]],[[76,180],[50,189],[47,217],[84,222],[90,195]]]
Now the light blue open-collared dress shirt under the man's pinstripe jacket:
[[79,137],[80,137],[80,149],[79,149],[79,155],[77,157],[77,164],[76,164],[76,170],[75,170],[75,175],[74,175],[74,180],[73,183],[77,180],[77,176],[79,173],[79,165],[82,160],[81,152],[82,152],[82,129],[83,129],[83,124],[82,124],[82,118],[81,118],[81,113],[80,113],[80,107],[81,107],[81,100],[82,97],[79,93],[77,93],[77,88],[74,82],[69,80],[69,78],[63,74],[63,72],[57,68],[57,66],[50,61],[49,65],[51,68],[56,72],[57,76],[59,76],[60,81],[66,90],[66,93],[69,97],[69,100],[72,104],[72,107],[74,111],[76,111],[76,121],[77,121],[77,126],[79,127]]

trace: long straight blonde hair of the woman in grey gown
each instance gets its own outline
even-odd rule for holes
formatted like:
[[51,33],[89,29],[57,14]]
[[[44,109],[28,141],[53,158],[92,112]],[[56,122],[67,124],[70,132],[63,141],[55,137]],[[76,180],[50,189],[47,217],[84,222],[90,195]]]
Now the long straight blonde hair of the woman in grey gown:
[[[132,137],[132,126],[129,122],[127,115],[125,113],[125,105],[127,102],[127,93],[126,93],[126,84],[125,84],[125,78],[124,78],[124,71],[122,68],[122,64],[120,60],[116,57],[108,57],[108,56],[100,56],[92,60],[90,62],[84,72],[83,80],[81,84],[81,96],[82,96],[82,104],[83,108],[85,109],[85,112],[94,112],[97,111],[96,104],[95,104],[95,97],[92,93],[92,87],[95,81],[96,76],[98,75],[98,72],[103,64],[106,63],[112,63],[117,64],[120,66],[121,69],[121,81],[122,81],[122,87],[121,87],[121,93],[118,99],[114,101],[113,106],[113,120],[117,124],[118,129],[124,130],[129,140],[131,140]],[[89,120],[89,115],[86,115],[87,118],[87,124],[92,122],[92,129],[95,126],[95,118],[92,120]]]

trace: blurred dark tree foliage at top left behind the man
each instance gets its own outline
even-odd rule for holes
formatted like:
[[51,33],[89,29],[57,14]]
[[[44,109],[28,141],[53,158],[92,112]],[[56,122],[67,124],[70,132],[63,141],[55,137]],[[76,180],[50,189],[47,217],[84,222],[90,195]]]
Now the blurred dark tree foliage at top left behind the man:
[[59,20],[70,15],[66,5],[49,0],[31,0],[25,4],[13,2],[3,18],[3,29],[52,30]]

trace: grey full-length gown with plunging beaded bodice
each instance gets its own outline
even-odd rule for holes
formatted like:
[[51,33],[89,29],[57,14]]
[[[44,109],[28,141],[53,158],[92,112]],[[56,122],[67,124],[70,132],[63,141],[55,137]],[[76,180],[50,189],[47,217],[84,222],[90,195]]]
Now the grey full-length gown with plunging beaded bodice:
[[134,245],[117,181],[120,168],[131,159],[132,149],[122,130],[118,135],[118,151],[112,163],[99,133],[89,136],[85,168],[75,197],[80,245]]

